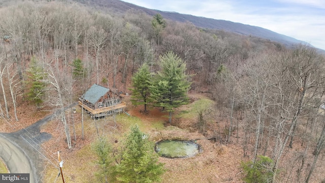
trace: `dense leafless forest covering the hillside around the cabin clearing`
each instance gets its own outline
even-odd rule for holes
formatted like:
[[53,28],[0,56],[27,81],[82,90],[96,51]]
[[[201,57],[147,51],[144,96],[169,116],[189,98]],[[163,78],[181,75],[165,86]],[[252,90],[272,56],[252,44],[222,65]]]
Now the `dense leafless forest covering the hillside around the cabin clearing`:
[[[143,64],[157,72],[159,55],[172,51],[192,76],[189,93],[213,99],[228,121],[213,129],[202,111],[198,131],[213,132],[220,144],[240,135],[243,157],[253,164],[261,155],[273,160],[270,182],[311,182],[314,174],[325,180],[324,55],[314,48],[61,2],[0,9],[0,37],[4,119],[19,121],[16,107],[26,101],[64,111],[93,83],[132,93],[133,74]],[[62,112],[64,126],[67,117]]]

